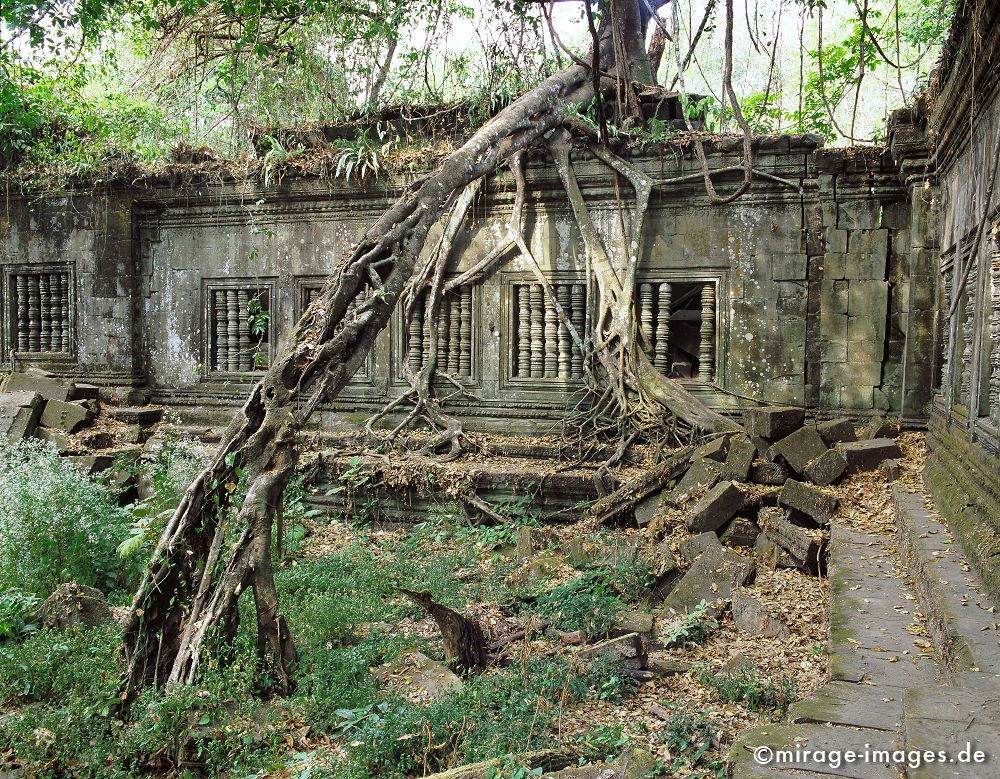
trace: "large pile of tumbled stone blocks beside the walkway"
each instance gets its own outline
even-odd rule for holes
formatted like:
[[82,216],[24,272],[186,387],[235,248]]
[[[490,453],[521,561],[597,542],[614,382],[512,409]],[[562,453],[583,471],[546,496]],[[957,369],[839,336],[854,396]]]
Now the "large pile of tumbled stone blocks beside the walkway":
[[657,537],[683,521],[695,539],[712,534],[726,547],[751,549],[756,562],[824,573],[838,504],[825,488],[886,461],[891,469],[902,456],[891,437],[897,431],[881,418],[860,436],[849,419],[807,425],[804,410],[793,407],[747,409],[744,425],[744,433],[696,450],[671,489],[636,507],[636,520]]

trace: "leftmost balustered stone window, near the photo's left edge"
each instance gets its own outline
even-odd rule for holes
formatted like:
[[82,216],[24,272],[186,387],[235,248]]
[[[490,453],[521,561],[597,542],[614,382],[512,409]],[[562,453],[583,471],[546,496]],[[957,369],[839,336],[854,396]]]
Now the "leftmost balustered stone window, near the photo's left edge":
[[67,266],[15,267],[7,273],[10,348],[22,354],[69,354],[73,284]]

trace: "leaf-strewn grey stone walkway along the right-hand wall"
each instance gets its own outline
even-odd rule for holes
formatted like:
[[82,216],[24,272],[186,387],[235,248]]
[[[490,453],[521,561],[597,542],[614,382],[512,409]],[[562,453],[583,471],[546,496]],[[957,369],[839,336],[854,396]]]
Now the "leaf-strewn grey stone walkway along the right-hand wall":
[[834,524],[830,681],[788,724],[744,733],[731,776],[1000,776],[1000,614],[924,493],[893,486],[893,497],[892,535]]

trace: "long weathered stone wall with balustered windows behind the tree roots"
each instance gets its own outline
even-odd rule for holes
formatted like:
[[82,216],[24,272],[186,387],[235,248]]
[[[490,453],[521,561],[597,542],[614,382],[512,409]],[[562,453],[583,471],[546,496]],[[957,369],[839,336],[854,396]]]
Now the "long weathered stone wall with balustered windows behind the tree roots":
[[[710,205],[697,176],[654,195],[635,294],[654,363],[722,408],[752,398],[819,413],[922,418],[929,395],[920,363],[933,352],[934,332],[920,316],[936,276],[913,272],[920,230],[898,161],[881,149],[823,150],[814,136],[755,145],[755,166],[770,177],[731,205]],[[722,139],[710,151],[713,167],[733,164],[739,141]],[[690,150],[678,147],[633,158],[656,178],[698,171]],[[614,181],[583,150],[575,163],[624,272],[627,182]],[[582,323],[586,269],[565,195],[543,161],[532,163],[528,178],[528,243]],[[406,180],[371,187],[308,177],[270,187],[204,180],[11,198],[0,222],[6,364],[145,382],[154,400],[192,420],[218,421]],[[509,177],[486,189],[456,244],[454,273],[501,240],[512,190]],[[56,279],[65,291],[54,287],[43,301],[39,288],[36,303],[33,286],[18,287],[25,274],[62,272],[56,266],[68,273]],[[54,304],[53,294],[68,302]],[[31,340],[33,317],[40,323],[55,309],[60,322],[72,321],[69,352],[54,353],[51,335],[48,349]],[[266,328],[259,317],[251,321],[250,309],[270,315]],[[449,400],[452,410],[473,429],[557,429],[579,399],[580,355],[528,261],[509,253],[483,280],[455,290],[445,309],[441,366],[466,390]],[[400,366],[419,365],[425,341],[419,321],[404,332],[395,319],[323,424],[357,423],[404,391]]]

